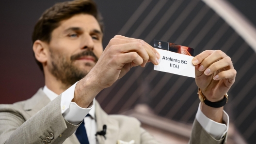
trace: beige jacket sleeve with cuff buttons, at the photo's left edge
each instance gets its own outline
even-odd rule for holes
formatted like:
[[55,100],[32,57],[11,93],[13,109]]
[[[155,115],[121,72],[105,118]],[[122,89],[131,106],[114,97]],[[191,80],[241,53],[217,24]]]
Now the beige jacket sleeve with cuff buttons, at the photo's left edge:
[[12,105],[0,105],[0,144],[62,144],[79,125],[61,113],[61,96],[25,121]]

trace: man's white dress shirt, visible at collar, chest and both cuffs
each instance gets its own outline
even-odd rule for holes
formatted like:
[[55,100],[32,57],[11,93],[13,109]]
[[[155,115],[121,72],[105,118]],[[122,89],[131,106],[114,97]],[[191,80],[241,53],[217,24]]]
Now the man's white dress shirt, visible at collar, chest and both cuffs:
[[[93,105],[90,108],[86,108],[86,109],[81,108],[75,102],[71,102],[74,98],[76,85],[77,83],[75,83],[73,86],[69,87],[67,90],[65,90],[62,93],[62,99],[61,99],[62,115],[68,122],[75,125],[79,124],[84,119],[85,129],[87,132],[89,143],[96,144],[95,134],[97,130],[97,125],[95,120],[95,99],[93,101]],[[51,101],[58,96],[56,93],[48,89],[47,86],[44,86],[43,91]],[[222,123],[217,123],[209,119],[206,115],[203,114],[203,112],[200,109],[200,104],[196,113],[197,121],[212,137],[214,137],[216,140],[220,140],[228,130],[228,124],[229,124],[228,115],[224,111],[223,120],[226,123],[226,125]],[[87,114],[90,114],[91,116],[86,116]]]

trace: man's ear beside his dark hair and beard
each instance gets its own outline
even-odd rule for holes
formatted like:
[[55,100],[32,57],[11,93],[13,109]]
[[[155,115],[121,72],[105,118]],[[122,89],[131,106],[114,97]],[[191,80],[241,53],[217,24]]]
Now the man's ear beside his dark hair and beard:
[[34,55],[35,55],[35,58],[39,62],[41,62],[41,63],[47,62],[47,59],[48,59],[48,50],[47,49],[48,49],[48,46],[43,41],[36,40],[33,43]]

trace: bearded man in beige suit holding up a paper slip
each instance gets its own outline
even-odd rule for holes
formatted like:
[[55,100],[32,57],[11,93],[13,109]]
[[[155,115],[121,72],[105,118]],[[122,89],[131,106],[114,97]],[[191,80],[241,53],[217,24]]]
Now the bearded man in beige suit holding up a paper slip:
[[[92,0],[58,3],[42,14],[32,41],[45,86],[29,100],[0,105],[0,144],[158,144],[138,120],[107,115],[95,97],[130,68],[147,62],[158,65],[160,55],[148,43],[120,35],[103,51],[102,37]],[[205,101],[216,106],[226,100],[236,76],[231,59],[222,51],[208,50],[193,58],[193,64]],[[201,103],[190,143],[224,144],[227,129],[223,105]]]

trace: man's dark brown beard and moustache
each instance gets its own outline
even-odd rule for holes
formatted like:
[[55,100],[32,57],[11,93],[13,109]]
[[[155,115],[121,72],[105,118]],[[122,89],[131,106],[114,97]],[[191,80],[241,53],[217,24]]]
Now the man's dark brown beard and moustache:
[[[80,81],[83,77],[85,77],[90,70],[84,71],[79,67],[75,66],[73,62],[78,58],[83,56],[92,56],[95,58],[95,62],[97,62],[98,58],[91,50],[83,51],[79,54],[75,54],[70,57],[70,60],[67,60],[64,55],[58,53],[57,55],[50,50],[50,57],[52,59],[50,72],[55,76],[57,80],[60,80],[65,87],[69,87],[74,85],[77,81]],[[86,66],[90,66],[93,68],[91,63],[85,63]]]

